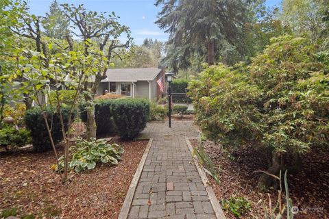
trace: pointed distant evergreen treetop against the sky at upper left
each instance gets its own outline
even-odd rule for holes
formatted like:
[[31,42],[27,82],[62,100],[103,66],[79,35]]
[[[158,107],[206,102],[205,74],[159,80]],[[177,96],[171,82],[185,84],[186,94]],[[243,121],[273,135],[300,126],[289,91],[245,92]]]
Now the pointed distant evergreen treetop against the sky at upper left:
[[43,27],[47,36],[56,39],[62,39],[69,33],[69,20],[64,16],[57,0],[51,3]]

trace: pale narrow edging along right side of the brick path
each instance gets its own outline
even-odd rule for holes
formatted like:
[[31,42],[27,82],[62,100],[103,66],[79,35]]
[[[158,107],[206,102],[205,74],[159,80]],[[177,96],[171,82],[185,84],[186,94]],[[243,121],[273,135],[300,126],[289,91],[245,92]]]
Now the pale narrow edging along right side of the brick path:
[[[206,176],[206,173],[204,172],[204,170],[202,168],[200,168],[199,166],[199,162],[197,159],[197,155],[193,155],[193,147],[191,145],[190,140],[188,140],[189,138],[185,138],[188,149],[191,152],[191,155],[193,156],[193,160],[195,162],[195,166],[197,166],[197,171],[199,172],[199,175],[201,177],[202,183],[204,183],[204,187],[206,188],[206,191],[208,193],[208,196],[210,198],[210,203],[212,205],[212,208],[215,211],[216,214],[216,218],[218,219],[226,219],[226,216],[223,213],[223,210],[221,209],[221,205],[219,204],[219,201],[215,195],[215,192],[212,190],[210,183],[208,181],[208,178]],[[191,138],[191,139],[199,139],[199,138]]]

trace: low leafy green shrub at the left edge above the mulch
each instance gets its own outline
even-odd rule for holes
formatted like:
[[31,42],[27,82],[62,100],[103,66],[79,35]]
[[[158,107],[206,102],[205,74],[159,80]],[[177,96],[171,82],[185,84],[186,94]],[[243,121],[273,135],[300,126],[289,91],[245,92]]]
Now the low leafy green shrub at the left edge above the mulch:
[[18,146],[24,146],[31,142],[29,131],[25,128],[15,128],[4,125],[0,129],[0,147],[6,151],[15,151]]

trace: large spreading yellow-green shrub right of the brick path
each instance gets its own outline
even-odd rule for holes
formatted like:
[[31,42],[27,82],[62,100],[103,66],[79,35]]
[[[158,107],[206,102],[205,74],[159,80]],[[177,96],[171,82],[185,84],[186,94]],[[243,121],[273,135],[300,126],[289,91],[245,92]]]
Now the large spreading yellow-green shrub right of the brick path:
[[284,155],[328,149],[329,75],[326,54],[320,59],[316,49],[305,38],[280,36],[249,66],[206,68],[190,89],[207,138],[269,149],[275,175],[284,168]]

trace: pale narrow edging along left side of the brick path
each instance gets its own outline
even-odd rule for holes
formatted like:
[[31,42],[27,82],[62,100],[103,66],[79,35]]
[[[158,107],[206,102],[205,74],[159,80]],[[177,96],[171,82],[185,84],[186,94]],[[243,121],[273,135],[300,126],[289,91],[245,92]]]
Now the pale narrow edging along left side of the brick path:
[[120,211],[118,219],[128,218],[130,206],[132,205],[132,199],[134,198],[135,190],[136,190],[138,181],[141,178],[144,164],[145,164],[147,155],[149,154],[149,149],[151,148],[152,142],[153,142],[153,138],[149,138],[149,143],[147,143],[147,146],[144,151],[141,162],[139,162],[139,164],[138,164],[138,168],[135,172],[134,178],[132,179],[132,183],[130,183],[129,190],[128,190],[127,194],[125,195],[125,201],[123,202],[123,205],[121,207],[121,211]]

